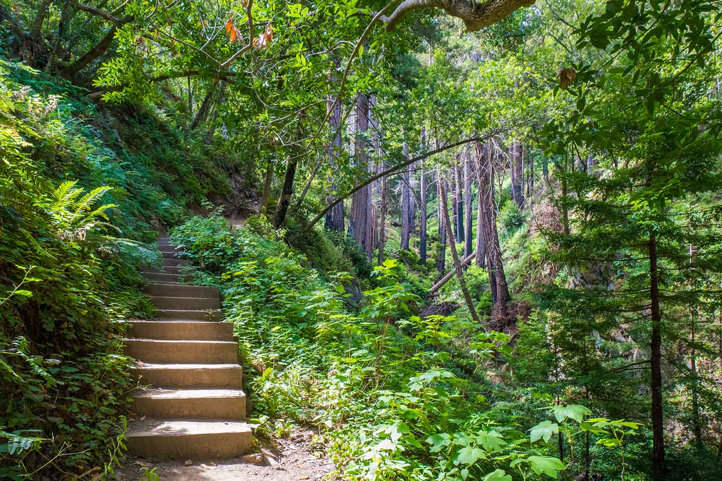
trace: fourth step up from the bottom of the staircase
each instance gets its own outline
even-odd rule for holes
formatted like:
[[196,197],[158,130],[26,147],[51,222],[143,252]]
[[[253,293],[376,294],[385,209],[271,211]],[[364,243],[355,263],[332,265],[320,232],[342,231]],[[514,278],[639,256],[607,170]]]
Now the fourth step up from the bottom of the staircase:
[[126,354],[147,363],[238,363],[238,343],[222,340],[123,340]]

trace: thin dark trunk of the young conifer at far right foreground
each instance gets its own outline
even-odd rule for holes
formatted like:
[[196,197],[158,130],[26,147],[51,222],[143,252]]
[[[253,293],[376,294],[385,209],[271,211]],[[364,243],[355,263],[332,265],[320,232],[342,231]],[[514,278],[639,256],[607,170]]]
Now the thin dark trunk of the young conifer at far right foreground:
[[662,481],[664,469],[664,415],[662,411],[662,316],[659,306],[657,239],[649,234],[649,279],[652,332],[649,343],[652,394],[652,480]]

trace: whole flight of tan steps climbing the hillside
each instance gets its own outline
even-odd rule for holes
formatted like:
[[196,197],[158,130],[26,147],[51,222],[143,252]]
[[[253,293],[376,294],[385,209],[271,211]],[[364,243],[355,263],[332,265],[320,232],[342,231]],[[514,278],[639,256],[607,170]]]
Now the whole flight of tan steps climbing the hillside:
[[212,286],[179,283],[181,260],[161,238],[163,268],[144,272],[160,319],[130,322],[126,353],[149,388],[134,393],[126,446],[155,459],[233,457],[251,449],[243,371],[230,322]]

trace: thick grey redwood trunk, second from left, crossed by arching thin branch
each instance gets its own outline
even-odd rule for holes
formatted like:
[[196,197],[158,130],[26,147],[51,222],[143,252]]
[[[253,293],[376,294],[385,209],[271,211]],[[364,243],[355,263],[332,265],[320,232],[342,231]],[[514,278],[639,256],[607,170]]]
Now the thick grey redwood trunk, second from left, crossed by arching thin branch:
[[[362,134],[368,130],[369,102],[368,95],[360,93],[356,102],[356,164],[362,169],[368,169],[367,142]],[[351,202],[351,215],[349,216],[349,237],[353,237],[362,250],[368,251],[370,239],[367,238],[369,219],[369,190],[365,185],[354,193]]]

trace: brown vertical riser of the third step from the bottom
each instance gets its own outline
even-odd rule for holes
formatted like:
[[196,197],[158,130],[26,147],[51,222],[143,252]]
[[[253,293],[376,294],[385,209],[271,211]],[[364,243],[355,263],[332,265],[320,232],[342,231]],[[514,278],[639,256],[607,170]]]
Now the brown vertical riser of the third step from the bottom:
[[135,369],[136,379],[142,384],[155,387],[233,387],[240,389],[243,384],[243,370],[226,369]]

